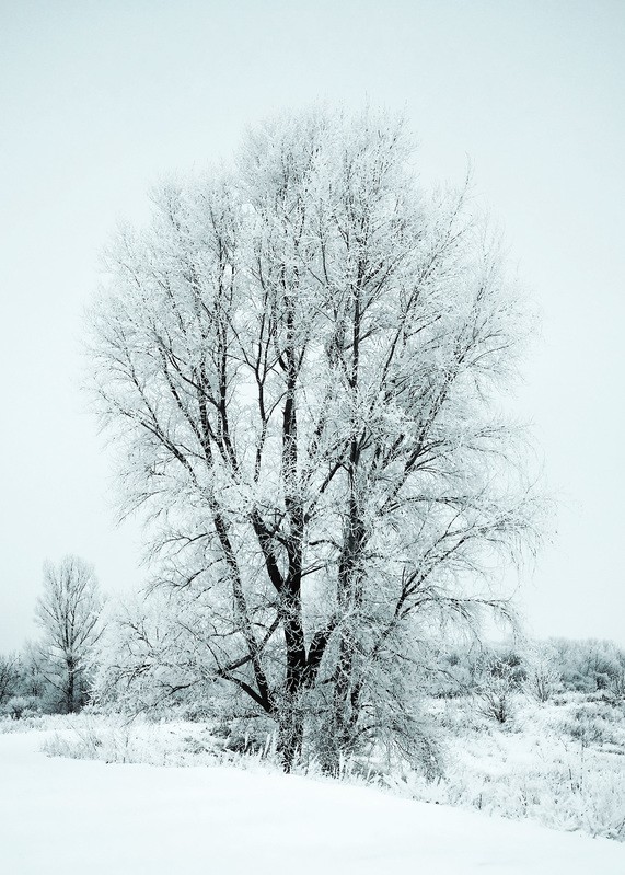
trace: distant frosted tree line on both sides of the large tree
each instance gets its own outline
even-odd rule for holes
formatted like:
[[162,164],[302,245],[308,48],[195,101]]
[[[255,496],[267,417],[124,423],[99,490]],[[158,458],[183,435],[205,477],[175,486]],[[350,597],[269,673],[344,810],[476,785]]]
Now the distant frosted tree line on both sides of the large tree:
[[[59,610],[50,617],[55,594],[57,607],[60,609],[63,603],[63,577],[66,596],[73,594],[73,602],[66,598],[65,603],[73,603],[73,612]],[[74,585],[68,587],[68,580]],[[178,706],[192,719],[222,712],[219,690],[212,684],[211,690],[200,689],[201,684],[170,690],[166,696],[161,687],[151,682],[146,689],[132,687],[125,692],[111,687],[107,664],[113,655],[108,651],[119,645],[118,630],[108,643],[101,640],[103,600],[91,566],[77,557],[66,557],[57,567],[46,566],[45,584],[36,609],[42,638],[27,642],[20,652],[0,654],[0,716],[19,719],[34,714],[71,713],[95,700],[112,710],[148,707],[160,712],[160,706]],[[73,637],[67,636],[71,631],[71,623],[66,623],[69,614],[77,630]],[[557,701],[567,693],[625,699],[625,648],[598,638],[441,648],[424,655],[421,684],[414,690],[414,698],[418,704],[424,695],[473,696],[477,711],[506,723],[512,698],[519,693],[537,702]],[[229,716],[233,725],[241,714],[232,710]]]

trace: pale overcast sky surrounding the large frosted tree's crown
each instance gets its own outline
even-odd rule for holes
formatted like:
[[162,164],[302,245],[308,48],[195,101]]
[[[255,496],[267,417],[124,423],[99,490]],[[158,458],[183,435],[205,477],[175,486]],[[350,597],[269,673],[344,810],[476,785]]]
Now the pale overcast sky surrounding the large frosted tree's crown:
[[530,623],[625,644],[625,3],[0,0],[0,652],[35,634],[46,557],[142,579],[79,391],[116,221],[274,110],[367,97],[405,108],[425,181],[471,157],[543,312],[517,404],[560,509]]

